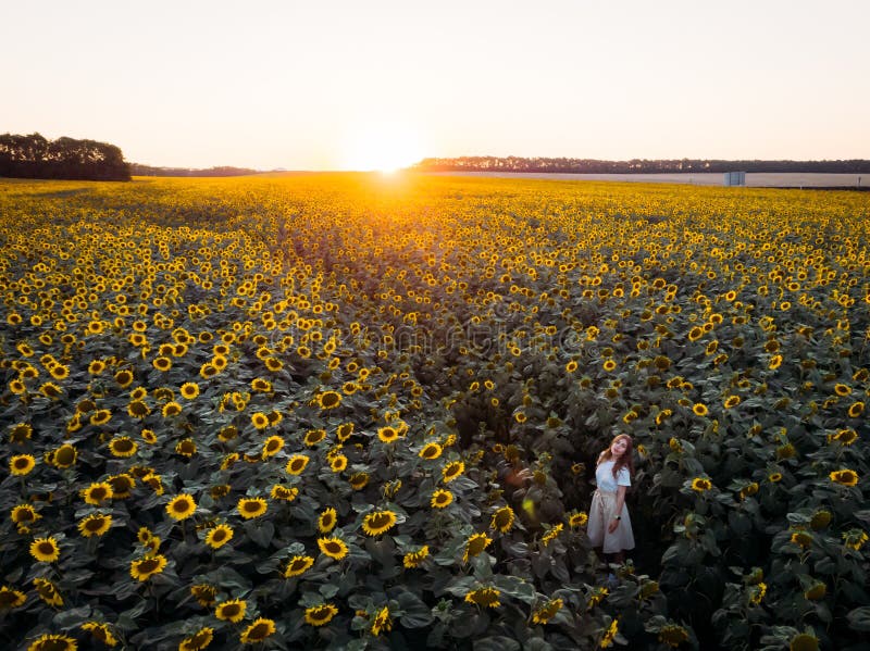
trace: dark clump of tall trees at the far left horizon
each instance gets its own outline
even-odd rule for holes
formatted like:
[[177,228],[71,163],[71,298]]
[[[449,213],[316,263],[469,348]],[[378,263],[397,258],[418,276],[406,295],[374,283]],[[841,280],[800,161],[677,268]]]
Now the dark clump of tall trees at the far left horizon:
[[49,140],[39,134],[0,136],[0,176],[75,180],[130,178],[129,165],[114,145],[66,137]]

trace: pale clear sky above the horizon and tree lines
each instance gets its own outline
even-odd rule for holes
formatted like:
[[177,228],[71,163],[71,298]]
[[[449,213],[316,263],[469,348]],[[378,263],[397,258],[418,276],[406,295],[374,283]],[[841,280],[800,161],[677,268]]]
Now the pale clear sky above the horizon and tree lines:
[[3,0],[0,133],[127,161],[870,158],[867,0]]

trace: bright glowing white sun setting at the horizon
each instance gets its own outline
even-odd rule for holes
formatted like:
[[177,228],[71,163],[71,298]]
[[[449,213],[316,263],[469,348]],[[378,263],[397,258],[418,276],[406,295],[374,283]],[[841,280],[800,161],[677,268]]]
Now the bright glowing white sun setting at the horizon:
[[391,174],[423,158],[420,137],[402,124],[371,124],[356,130],[345,146],[343,167]]

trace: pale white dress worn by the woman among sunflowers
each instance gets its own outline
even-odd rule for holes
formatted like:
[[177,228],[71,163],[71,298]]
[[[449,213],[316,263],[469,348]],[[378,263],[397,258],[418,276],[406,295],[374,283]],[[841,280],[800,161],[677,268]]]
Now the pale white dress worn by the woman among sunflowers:
[[620,513],[622,519],[619,521],[619,526],[612,534],[608,531],[610,521],[616,515],[613,511],[617,508],[618,487],[632,485],[629,468],[620,468],[616,478],[613,477],[614,463],[614,461],[602,461],[595,468],[595,481],[598,488],[592,496],[589,522],[586,525],[589,542],[593,547],[602,548],[606,554],[634,549],[632,521],[629,517],[629,508],[624,503],[622,513]]

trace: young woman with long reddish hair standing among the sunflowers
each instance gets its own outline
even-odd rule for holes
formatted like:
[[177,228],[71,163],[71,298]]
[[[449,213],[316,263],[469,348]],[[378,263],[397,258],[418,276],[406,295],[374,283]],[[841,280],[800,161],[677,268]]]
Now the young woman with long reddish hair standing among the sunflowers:
[[634,474],[632,448],[632,438],[620,434],[598,455],[595,470],[598,488],[592,496],[586,526],[592,546],[600,549],[605,559],[612,556],[616,563],[622,563],[625,551],[634,549],[632,521],[625,508],[625,490],[632,485]]

